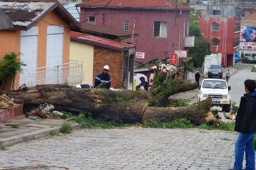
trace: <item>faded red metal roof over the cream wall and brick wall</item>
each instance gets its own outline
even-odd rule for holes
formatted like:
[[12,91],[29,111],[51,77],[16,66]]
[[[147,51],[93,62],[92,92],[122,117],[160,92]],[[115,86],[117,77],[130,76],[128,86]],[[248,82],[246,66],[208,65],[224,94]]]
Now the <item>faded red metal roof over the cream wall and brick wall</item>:
[[83,34],[75,31],[70,31],[71,40],[85,42],[92,45],[97,45],[104,48],[110,48],[117,51],[125,51],[128,48],[133,48],[134,45],[127,44],[124,42],[118,42],[107,38],[97,37],[90,34]]

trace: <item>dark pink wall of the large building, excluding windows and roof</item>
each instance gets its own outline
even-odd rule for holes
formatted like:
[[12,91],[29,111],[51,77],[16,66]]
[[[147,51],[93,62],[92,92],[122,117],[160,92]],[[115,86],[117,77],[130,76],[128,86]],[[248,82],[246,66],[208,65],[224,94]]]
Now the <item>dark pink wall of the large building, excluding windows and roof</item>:
[[[88,19],[88,16],[98,12],[98,9],[81,8],[80,21]],[[136,45],[137,52],[145,52],[143,62],[151,59],[162,59],[178,50],[179,44],[179,18],[180,11],[177,12],[175,25],[175,11],[152,11],[152,10],[125,10],[125,9],[104,9],[104,15],[96,15],[96,25],[124,30],[124,21],[129,20],[129,31],[140,34],[134,37],[132,44]],[[134,26],[134,19],[135,26]],[[154,21],[167,22],[167,38],[153,37]],[[88,22],[88,21],[86,21]],[[181,35],[180,50],[184,50],[184,23],[189,23],[189,11],[181,13]],[[126,42],[131,42],[127,39]]]

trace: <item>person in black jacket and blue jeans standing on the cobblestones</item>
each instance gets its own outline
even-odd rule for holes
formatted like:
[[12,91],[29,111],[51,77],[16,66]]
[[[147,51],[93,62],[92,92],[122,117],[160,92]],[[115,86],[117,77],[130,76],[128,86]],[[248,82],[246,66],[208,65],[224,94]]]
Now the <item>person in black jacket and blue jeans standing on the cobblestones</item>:
[[235,131],[239,132],[235,142],[234,168],[229,170],[242,170],[244,151],[246,168],[255,170],[255,152],[253,139],[256,132],[256,81],[247,79],[244,81],[246,94],[241,97],[239,110],[236,115]]

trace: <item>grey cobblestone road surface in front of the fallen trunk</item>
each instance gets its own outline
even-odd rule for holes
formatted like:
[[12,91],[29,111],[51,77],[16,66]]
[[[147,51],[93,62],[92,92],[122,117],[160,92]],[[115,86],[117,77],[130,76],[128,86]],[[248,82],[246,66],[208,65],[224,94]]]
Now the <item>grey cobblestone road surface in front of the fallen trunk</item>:
[[[0,151],[0,167],[70,170],[227,170],[236,133],[198,129],[79,130]],[[1,169],[1,168],[0,168]]]

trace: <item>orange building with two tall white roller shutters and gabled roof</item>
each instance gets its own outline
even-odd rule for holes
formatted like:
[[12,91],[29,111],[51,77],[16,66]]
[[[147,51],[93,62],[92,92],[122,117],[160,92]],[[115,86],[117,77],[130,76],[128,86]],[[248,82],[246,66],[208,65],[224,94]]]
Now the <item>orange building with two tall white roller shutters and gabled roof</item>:
[[20,53],[20,60],[26,64],[23,74],[10,80],[6,90],[15,90],[23,83],[65,83],[65,79],[49,78],[50,74],[63,74],[62,68],[46,70],[70,62],[70,30],[79,30],[80,24],[55,0],[4,0],[0,1],[0,12],[13,23],[13,28],[0,30],[0,59],[15,52]]

